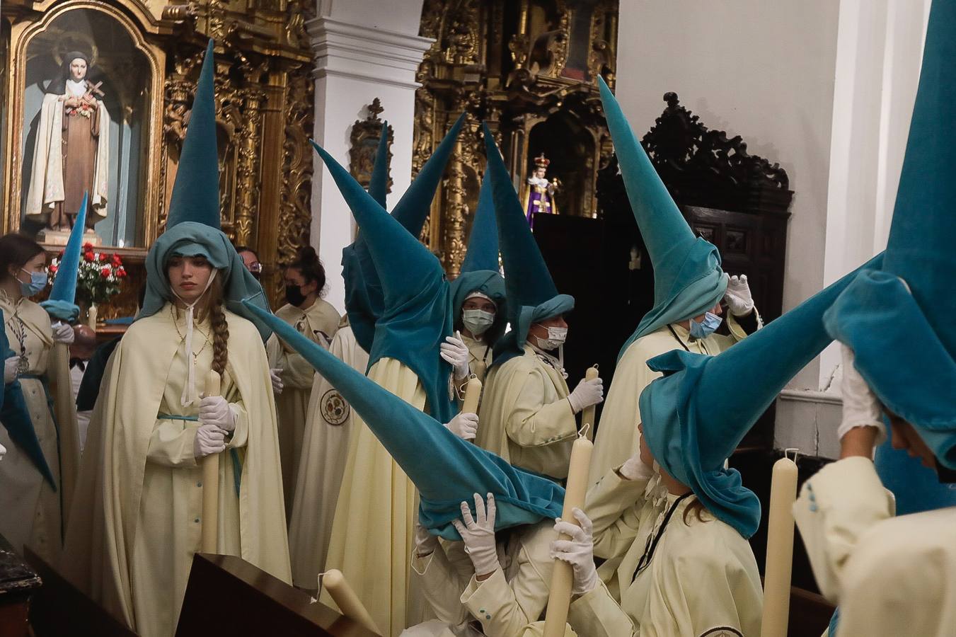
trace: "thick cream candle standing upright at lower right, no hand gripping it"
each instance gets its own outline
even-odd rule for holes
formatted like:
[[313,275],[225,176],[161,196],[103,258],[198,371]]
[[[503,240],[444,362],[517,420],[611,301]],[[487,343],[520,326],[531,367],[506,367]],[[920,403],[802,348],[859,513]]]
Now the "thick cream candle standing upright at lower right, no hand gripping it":
[[[793,457],[796,458],[795,455]],[[787,637],[791,571],[793,570],[793,501],[795,499],[796,464],[786,457],[785,451],[784,457],[773,464],[771,478],[761,637]]]

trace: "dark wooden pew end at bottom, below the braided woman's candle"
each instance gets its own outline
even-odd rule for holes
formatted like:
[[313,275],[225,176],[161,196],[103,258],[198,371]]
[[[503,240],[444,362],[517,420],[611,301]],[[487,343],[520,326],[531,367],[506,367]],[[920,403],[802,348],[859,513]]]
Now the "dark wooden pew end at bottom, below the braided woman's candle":
[[281,635],[373,637],[375,633],[248,561],[196,554],[176,637]]

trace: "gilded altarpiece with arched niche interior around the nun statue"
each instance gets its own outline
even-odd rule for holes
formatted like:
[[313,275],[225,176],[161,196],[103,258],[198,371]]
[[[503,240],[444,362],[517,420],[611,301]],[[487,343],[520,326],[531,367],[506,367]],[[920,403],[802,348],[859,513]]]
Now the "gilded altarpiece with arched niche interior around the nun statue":
[[[36,235],[28,214],[40,101],[64,57],[87,60],[112,128],[108,178],[95,232],[130,278],[100,316],[129,314],[166,206],[206,42],[216,55],[216,143],[223,230],[250,246],[278,297],[277,265],[308,241],[314,113],[309,0],[5,0],[2,16],[0,230]],[[66,60],[69,64],[69,60]],[[42,239],[43,234],[39,235]],[[58,247],[48,246],[51,253]]]

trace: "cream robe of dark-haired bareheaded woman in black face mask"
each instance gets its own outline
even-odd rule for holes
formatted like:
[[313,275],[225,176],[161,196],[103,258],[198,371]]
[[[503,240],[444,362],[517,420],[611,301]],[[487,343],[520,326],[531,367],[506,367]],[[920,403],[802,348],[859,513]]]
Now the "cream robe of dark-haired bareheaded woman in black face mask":
[[[316,298],[305,311],[286,303],[275,316],[292,325],[299,334],[328,348],[338,329],[336,308],[321,298]],[[299,455],[305,434],[309,397],[315,382],[315,368],[306,362],[292,347],[279,339],[267,341],[269,364],[281,367],[282,393],[275,397],[275,410],[279,419],[279,454],[282,457],[282,491],[285,495],[286,515],[293,511],[295,476],[298,474]]]

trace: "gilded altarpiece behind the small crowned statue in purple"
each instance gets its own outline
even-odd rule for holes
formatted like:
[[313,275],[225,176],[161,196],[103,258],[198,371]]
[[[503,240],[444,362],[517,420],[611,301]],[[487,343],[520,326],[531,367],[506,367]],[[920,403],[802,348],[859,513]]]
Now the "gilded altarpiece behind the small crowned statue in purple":
[[597,216],[597,171],[612,152],[597,77],[614,86],[617,32],[617,0],[425,0],[420,35],[435,43],[417,76],[413,172],[467,112],[422,236],[449,275],[465,256],[484,173],[482,121],[519,192],[544,153],[557,209]]

